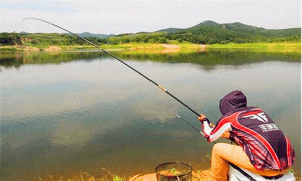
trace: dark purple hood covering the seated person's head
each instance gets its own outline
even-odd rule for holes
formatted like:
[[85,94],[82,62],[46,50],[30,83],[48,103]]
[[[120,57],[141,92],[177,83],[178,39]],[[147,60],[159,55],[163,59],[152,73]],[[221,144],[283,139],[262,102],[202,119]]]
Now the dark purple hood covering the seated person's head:
[[241,91],[232,91],[220,100],[219,108],[222,115],[241,107],[247,107],[247,98]]

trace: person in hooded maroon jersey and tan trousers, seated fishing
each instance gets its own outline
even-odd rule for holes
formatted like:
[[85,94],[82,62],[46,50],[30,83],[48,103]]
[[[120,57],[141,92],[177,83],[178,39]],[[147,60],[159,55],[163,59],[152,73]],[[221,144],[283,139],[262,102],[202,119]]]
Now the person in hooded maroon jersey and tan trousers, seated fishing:
[[295,151],[263,109],[247,107],[246,96],[232,91],[220,100],[222,117],[211,126],[201,114],[202,130],[208,142],[220,137],[238,145],[217,143],[211,156],[213,181],[227,180],[229,162],[264,177],[281,177],[292,166]]

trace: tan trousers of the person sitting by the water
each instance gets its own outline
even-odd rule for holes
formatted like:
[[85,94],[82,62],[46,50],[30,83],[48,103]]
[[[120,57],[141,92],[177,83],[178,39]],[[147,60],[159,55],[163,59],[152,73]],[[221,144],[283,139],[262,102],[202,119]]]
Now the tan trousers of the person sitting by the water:
[[262,176],[276,176],[287,172],[287,170],[257,170],[241,146],[217,143],[213,146],[211,158],[211,177],[213,181],[225,181],[227,179],[228,162]]

